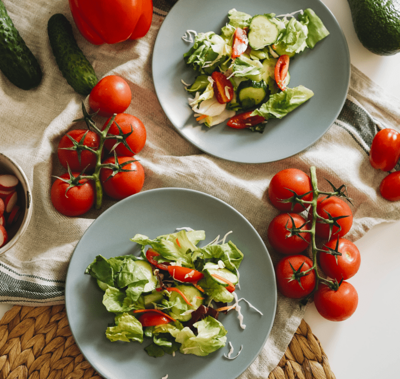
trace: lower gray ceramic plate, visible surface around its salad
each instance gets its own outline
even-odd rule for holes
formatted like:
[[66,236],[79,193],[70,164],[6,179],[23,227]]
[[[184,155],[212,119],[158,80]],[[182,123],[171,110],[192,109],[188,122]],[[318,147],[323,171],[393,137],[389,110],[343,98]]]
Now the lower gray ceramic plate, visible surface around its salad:
[[[217,234],[228,231],[231,239],[243,252],[239,268],[239,297],[244,297],[263,315],[247,306],[242,313],[245,329],[239,327],[237,313],[231,311],[219,320],[227,329],[235,353],[227,359],[229,346],[205,357],[165,354],[153,358],[143,350],[149,342],[110,342],[105,337],[108,323],[113,321],[101,303],[102,293],[95,280],[84,274],[95,255],[111,257],[139,254],[139,246],[129,240],[142,233],[154,238],[190,226],[205,230],[207,243]],[[201,244],[200,244],[201,245]],[[73,337],[85,358],[105,378],[161,379],[168,374],[173,379],[234,379],[256,358],[272,327],[276,309],[276,285],[268,251],[251,224],[234,208],[208,194],[182,188],[151,189],[132,195],[105,210],[75,247],[66,276],[65,304]],[[217,376],[215,376],[217,374]]]

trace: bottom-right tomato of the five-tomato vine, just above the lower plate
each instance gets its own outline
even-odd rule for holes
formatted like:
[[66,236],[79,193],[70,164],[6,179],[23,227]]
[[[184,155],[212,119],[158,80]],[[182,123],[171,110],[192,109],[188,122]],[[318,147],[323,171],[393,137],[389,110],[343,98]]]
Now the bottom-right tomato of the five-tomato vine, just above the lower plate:
[[[144,183],[143,167],[137,160],[123,165],[133,159],[132,156],[118,156],[117,162],[122,169],[130,171],[117,172],[114,176],[111,176],[113,173],[111,168],[100,169],[101,185],[108,196],[120,200],[140,191]],[[103,164],[107,163],[115,163],[114,157],[110,156],[103,161]]]

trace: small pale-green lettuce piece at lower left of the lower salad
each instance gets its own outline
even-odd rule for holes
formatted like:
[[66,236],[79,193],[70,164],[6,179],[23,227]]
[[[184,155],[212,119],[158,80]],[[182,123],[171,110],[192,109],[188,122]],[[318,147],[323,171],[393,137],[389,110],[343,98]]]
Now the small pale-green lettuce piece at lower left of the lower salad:
[[117,314],[115,325],[107,327],[105,336],[110,341],[137,341],[143,342],[143,329],[136,317],[126,312]]

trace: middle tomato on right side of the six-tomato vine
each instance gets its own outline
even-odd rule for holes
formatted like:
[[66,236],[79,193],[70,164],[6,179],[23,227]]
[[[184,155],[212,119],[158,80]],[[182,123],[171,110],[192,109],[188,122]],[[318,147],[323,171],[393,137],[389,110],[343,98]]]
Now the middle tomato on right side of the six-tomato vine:
[[[331,239],[325,246],[330,247],[332,250],[336,249],[337,239]],[[327,248],[324,248],[329,251]],[[361,257],[357,246],[345,238],[339,238],[337,251],[341,255],[332,255],[329,252],[319,253],[319,265],[322,271],[332,279],[340,281],[341,279],[347,280],[355,275],[361,263]],[[336,261],[337,258],[337,261]]]

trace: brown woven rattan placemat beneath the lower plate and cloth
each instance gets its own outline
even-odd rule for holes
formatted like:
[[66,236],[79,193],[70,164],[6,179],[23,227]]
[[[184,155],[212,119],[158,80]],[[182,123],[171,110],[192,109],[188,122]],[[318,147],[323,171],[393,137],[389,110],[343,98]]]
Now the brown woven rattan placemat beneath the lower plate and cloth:
[[[0,321],[0,379],[101,379],[72,338],[64,305],[14,305]],[[335,379],[302,320],[268,379]]]

